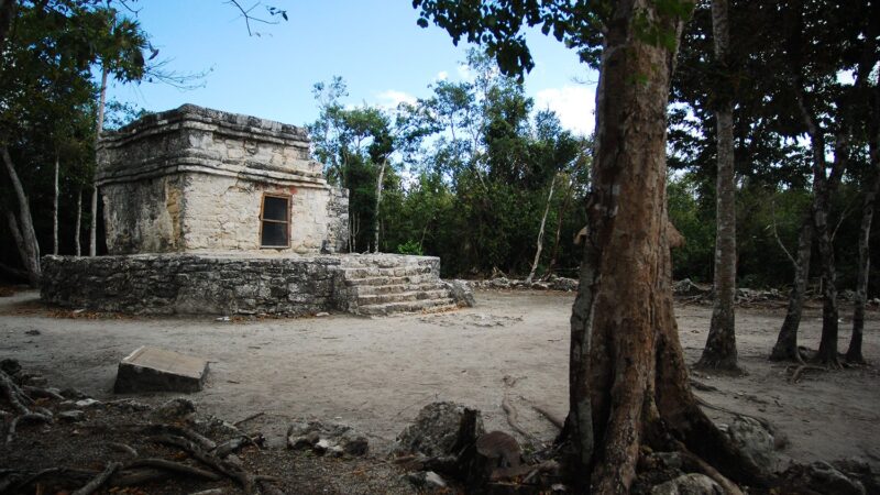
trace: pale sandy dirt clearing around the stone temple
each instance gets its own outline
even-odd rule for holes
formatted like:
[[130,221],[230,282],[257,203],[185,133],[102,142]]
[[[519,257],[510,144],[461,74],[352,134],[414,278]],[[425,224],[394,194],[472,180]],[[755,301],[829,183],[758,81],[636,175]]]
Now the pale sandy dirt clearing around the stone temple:
[[[275,428],[266,433],[276,442],[283,441],[287,418],[314,417],[353,426],[382,452],[435,400],[476,407],[488,429],[510,431],[502,409],[505,394],[525,429],[550,441],[554,427],[531,406],[564,416],[573,295],[477,292],[476,297],[475,308],[437,315],[218,321],[89,318],[45,308],[36,293],[25,292],[0,298],[0,359],[18,359],[53,386],[109,399],[117,363],[140,345],[201,355],[211,365],[206,388],[190,395],[199,410],[230,421],[263,413],[261,422]],[[789,383],[787,365],[767,361],[783,311],[739,308],[737,345],[746,374],[701,373],[695,378],[717,389],[697,395],[770,420],[790,440],[783,454],[798,461],[857,455],[880,466],[880,372],[873,366],[817,372]],[[849,315],[842,312],[842,350]],[[678,306],[676,316],[688,361],[695,362],[711,308]],[[814,307],[801,327],[801,344],[815,349],[820,330]],[[880,358],[877,309],[868,314],[865,355],[875,363]],[[505,385],[506,376],[513,386]],[[719,422],[730,418],[715,409],[707,414]]]

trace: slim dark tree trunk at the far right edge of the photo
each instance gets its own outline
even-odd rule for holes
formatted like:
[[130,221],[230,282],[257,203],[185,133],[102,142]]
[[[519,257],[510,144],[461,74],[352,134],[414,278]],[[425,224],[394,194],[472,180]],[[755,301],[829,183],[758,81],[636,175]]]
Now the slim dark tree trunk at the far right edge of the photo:
[[849,349],[846,351],[846,360],[850,363],[865,363],[865,356],[861,354],[861,338],[865,330],[865,304],[868,300],[868,275],[871,267],[869,244],[875,204],[877,201],[877,195],[880,194],[880,86],[875,87],[871,92],[873,101],[871,101],[872,114],[868,147],[870,150],[873,179],[865,189],[865,198],[861,202],[859,266],[856,280],[856,300],[853,307],[853,334],[849,338]]

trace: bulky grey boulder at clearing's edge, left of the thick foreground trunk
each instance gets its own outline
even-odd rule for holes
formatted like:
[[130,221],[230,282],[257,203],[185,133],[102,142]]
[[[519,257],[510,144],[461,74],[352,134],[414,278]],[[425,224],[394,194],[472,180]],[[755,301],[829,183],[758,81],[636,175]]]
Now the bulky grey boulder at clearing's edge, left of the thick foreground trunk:
[[484,432],[479,410],[449,402],[431,403],[397,436],[395,452],[429,458],[457,455],[466,438],[475,439]]

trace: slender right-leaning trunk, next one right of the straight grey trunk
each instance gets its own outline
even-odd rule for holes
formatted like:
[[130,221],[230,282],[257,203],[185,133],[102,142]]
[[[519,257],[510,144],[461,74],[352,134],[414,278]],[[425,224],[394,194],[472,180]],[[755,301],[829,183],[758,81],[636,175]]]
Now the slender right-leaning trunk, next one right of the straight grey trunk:
[[810,279],[810,257],[813,254],[813,213],[807,211],[798,234],[798,258],[794,263],[794,284],[789,295],[785,320],[779,330],[777,343],[770,353],[771,361],[802,361],[798,350],[798,328],[806,299],[806,283]]

